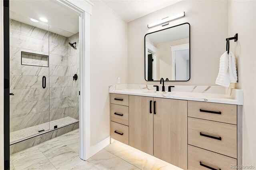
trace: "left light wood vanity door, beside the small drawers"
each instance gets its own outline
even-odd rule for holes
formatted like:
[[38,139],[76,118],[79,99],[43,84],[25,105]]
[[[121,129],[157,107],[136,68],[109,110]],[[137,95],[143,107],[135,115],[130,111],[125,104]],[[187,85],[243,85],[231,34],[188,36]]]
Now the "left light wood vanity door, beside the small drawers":
[[153,155],[153,97],[129,95],[129,145]]

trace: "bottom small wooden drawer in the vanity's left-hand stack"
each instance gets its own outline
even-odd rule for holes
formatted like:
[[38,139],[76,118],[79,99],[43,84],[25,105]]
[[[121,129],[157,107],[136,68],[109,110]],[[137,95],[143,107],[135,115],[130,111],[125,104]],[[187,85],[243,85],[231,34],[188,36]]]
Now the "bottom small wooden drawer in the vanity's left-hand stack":
[[129,127],[111,121],[111,138],[129,144]]

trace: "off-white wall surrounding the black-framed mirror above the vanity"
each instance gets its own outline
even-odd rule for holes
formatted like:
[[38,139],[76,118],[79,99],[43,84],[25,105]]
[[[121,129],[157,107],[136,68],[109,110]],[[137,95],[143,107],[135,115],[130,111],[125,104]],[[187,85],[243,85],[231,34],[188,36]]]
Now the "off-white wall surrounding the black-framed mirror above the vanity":
[[[228,35],[228,2],[181,1],[128,23],[128,83],[155,84],[144,79],[144,36],[149,32],[184,22],[190,23],[191,79],[172,85],[215,85],[220,55],[226,48]],[[147,24],[185,11],[186,16],[168,26],[147,28]]]

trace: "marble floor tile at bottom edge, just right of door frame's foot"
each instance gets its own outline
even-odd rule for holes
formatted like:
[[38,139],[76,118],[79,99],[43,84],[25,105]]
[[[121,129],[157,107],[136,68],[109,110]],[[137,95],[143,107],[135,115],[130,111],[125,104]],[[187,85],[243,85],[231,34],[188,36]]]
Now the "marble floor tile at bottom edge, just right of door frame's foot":
[[122,170],[138,169],[136,166],[129,164],[106,150],[100,150],[100,152],[96,153],[87,161],[99,170],[120,170],[120,168]]

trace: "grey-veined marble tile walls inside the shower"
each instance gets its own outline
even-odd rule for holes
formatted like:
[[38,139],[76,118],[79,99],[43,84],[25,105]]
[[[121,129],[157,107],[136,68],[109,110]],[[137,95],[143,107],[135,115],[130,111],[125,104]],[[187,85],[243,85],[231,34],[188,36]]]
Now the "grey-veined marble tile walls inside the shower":
[[[78,42],[78,34],[66,38],[10,19],[10,132],[67,116],[79,119],[78,81],[72,78],[79,73],[79,49],[69,41]],[[49,55],[49,67],[21,65],[21,51]]]

